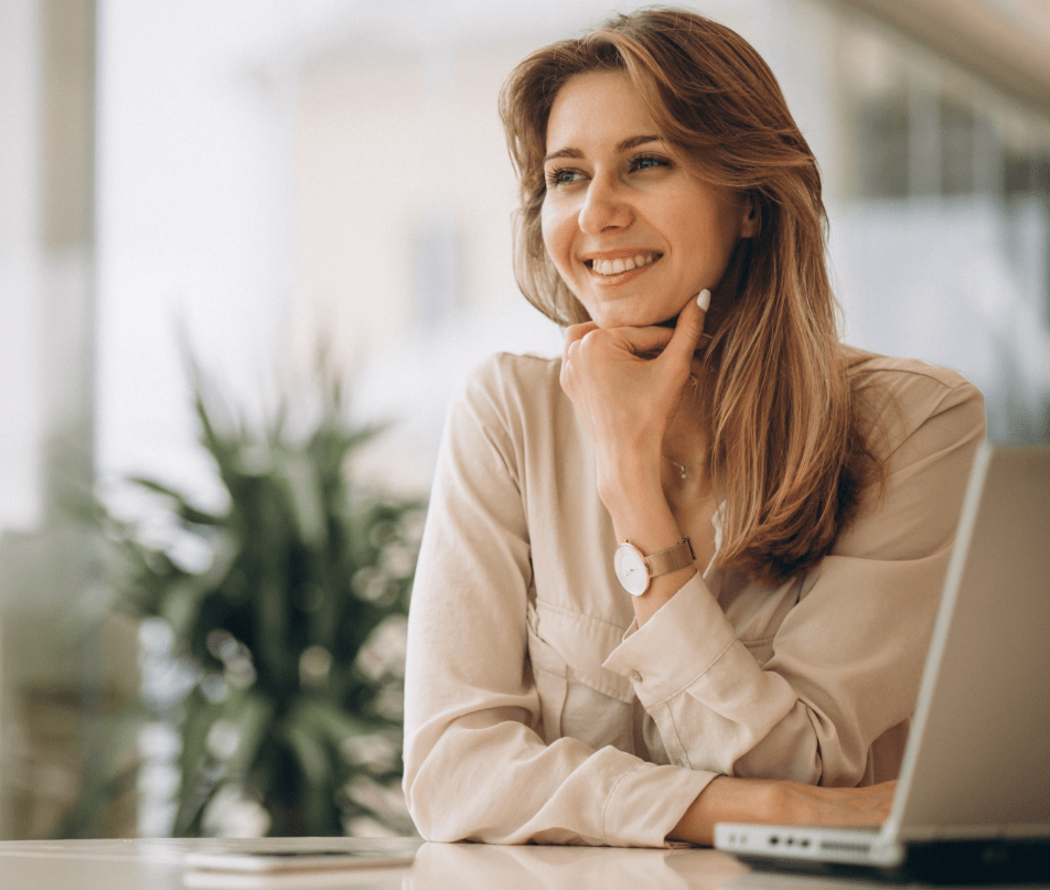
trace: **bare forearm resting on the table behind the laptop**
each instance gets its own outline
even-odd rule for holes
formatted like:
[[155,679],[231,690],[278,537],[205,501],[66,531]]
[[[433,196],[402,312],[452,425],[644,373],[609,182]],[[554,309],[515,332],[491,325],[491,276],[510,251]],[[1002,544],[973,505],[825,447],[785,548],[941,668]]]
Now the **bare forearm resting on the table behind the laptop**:
[[889,818],[897,782],[829,789],[802,782],[719,775],[700,792],[668,839],[709,847],[716,822],[770,825],[881,825]]

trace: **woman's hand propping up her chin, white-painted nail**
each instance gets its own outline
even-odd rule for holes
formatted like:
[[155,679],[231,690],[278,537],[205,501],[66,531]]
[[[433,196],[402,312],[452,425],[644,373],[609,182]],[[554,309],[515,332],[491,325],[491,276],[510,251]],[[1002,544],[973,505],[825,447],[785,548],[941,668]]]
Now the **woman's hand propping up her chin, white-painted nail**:
[[674,330],[587,322],[566,333],[561,388],[594,443],[598,491],[610,510],[639,476],[658,484],[661,446],[689,378],[705,310],[689,300]]

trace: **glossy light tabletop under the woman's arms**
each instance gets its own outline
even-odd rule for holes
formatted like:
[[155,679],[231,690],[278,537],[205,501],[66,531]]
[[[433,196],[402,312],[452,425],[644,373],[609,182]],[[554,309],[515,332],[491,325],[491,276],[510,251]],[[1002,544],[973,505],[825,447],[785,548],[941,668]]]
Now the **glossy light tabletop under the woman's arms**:
[[[331,840],[326,838],[325,840]],[[0,841],[0,888],[7,890],[182,890],[183,888],[374,888],[374,890],[802,890],[843,887],[750,872],[731,856],[709,849],[611,847],[499,847],[424,844],[410,867],[229,875],[193,870],[191,850],[205,839]],[[309,843],[287,838],[289,848]],[[352,840],[340,843],[352,845]],[[770,882],[772,881],[772,883]],[[779,881],[779,882],[778,882]],[[863,886],[863,884],[858,884]],[[870,884],[866,886],[870,888]]]

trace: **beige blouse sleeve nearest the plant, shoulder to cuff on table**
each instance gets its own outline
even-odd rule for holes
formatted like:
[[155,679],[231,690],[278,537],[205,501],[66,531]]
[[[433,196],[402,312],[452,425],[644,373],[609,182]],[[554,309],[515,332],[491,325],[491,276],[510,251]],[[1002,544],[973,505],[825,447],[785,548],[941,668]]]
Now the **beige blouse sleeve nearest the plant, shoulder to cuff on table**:
[[450,410],[413,590],[409,811],[429,840],[665,846],[711,773],[537,734],[521,455],[480,380]]

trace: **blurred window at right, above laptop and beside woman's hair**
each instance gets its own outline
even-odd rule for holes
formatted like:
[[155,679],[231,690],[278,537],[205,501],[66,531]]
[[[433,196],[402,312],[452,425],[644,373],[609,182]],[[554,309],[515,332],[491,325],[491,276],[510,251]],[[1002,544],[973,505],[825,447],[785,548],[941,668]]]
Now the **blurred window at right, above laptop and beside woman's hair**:
[[954,367],[989,436],[1050,441],[1050,116],[845,19],[847,339]]

